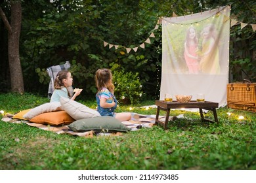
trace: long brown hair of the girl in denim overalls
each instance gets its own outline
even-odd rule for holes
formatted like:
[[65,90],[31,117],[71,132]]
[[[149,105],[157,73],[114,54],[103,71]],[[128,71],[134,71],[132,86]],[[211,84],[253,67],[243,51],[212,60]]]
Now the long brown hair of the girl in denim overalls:
[[107,84],[112,78],[112,73],[110,69],[98,69],[95,75],[96,88],[98,92],[102,90],[102,88],[107,88]]

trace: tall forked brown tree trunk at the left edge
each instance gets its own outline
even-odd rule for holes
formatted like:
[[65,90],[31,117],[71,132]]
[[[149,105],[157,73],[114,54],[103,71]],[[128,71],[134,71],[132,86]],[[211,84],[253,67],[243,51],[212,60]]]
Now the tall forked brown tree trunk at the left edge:
[[[1,8],[0,8],[1,9]],[[11,74],[12,92],[24,93],[22,67],[20,64],[20,27],[22,21],[21,1],[11,1],[11,25],[3,10],[0,10],[1,18],[8,30],[8,57]]]

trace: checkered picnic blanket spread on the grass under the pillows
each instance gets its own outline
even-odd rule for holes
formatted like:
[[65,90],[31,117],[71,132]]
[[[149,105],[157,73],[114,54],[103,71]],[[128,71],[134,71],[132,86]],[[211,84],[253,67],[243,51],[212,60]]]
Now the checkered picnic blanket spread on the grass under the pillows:
[[[144,114],[137,114],[131,113],[132,118],[129,121],[121,122],[122,124],[126,125],[131,129],[131,131],[136,131],[142,127],[152,127],[155,124],[156,115],[144,115]],[[10,122],[10,123],[25,123],[30,125],[31,127],[37,127],[39,129],[43,129],[46,131],[53,131],[57,134],[67,133],[69,135],[80,136],[80,137],[93,137],[95,135],[94,131],[86,131],[86,132],[77,132],[72,131],[68,128],[68,125],[61,125],[61,126],[53,126],[53,125],[45,125],[45,124],[36,124],[26,120],[18,120],[13,119],[13,114],[5,114],[1,119],[3,122]],[[160,120],[165,120],[165,116],[159,116]],[[97,133],[96,135],[121,135],[122,133]]]

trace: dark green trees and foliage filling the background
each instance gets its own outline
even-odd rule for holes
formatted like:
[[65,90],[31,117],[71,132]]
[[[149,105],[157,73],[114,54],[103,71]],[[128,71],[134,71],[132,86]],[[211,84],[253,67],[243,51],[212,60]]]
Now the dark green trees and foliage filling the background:
[[[51,3],[53,2],[53,3]],[[22,1],[20,62],[26,92],[47,95],[47,67],[69,60],[75,87],[88,97],[95,95],[94,73],[100,67],[139,73],[143,92],[158,97],[161,77],[161,29],[158,18],[178,16],[231,5],[232,18],[255,24],[254,1]],[[0,7],[11,16],[9,1]],[[131,50],[154,33],[151,44]],[[1,91],[10,91],[11,73],[7,56],[7,29],[0,21]],[[103,41],[122,45],[104,47]],[[255,32],[250,25],[230,28],[230,82],[255,78]],[[125,53],[125,54],[123,54]]]

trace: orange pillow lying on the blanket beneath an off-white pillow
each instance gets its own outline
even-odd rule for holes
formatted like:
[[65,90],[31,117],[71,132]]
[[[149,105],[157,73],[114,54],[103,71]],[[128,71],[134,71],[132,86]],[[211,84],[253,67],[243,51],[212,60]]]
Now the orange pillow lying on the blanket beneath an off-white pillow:
[[74,121],[75,120],[65,111],[45,112],[30,119],[30,122],[36,124],[49,125],[68,125]]

